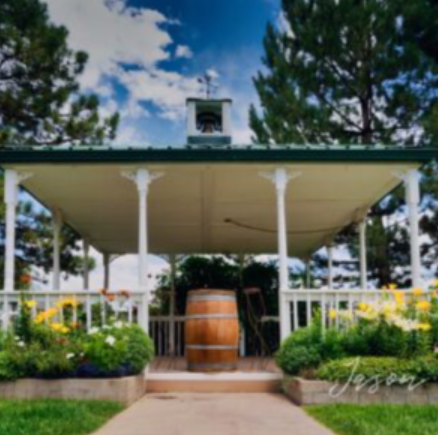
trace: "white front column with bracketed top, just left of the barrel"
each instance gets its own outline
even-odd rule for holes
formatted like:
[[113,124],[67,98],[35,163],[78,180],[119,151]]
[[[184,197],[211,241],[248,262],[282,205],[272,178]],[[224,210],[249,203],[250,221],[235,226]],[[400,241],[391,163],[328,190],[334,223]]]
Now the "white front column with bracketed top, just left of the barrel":
[[122,175],[137,185],[139,219],[138,219],[138,290],[143,292],[143,310],[140,313],[140,325],[149,332],[149,279],[148,279],[148,222],[147,196],[149,185],[161,177],[161,173],[154,173],[140,168],[136,172],[122,172]]

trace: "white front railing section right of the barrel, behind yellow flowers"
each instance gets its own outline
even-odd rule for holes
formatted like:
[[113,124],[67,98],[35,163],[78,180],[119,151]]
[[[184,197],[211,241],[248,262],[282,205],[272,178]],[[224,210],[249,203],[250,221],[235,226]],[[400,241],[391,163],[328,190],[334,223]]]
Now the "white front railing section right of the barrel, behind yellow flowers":
[[[412,294],[413,290],[403,290],[406,295]],[[318,310],[321,314],[322,328],[338,326],[340,322],[339,310],[347,310],[352,314],[361,302],[373,303],[382,298],[391,297],[388,290],[287,290],[281,294],[281,310],[284,322],[284,334],[288,335],[299,328],[309,326]],[[425,298],[430,294],[425,293]],[[330,314],[333,310],[333,315]],[[282,339],[285,337],[282,336]]]

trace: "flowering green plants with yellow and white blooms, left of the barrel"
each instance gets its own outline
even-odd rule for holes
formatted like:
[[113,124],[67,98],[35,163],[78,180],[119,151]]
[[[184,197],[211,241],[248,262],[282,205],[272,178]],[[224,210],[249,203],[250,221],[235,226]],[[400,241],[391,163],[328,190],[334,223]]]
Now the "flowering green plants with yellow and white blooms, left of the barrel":
[[34,302],[22,297],[13,328],[0,336],[0,381],[135,375],[151,361],[153,343],[141,328],[117,321],[86,333],[73,321],[75,306],[61,300],[33,319]]

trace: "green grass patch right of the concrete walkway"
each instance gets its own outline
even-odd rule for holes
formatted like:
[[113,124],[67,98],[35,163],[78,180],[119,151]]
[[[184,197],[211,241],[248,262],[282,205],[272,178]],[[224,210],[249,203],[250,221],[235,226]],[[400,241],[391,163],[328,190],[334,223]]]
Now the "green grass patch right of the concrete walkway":
[[438,406],[308,406],[308,414],[340,435],[437,435]]

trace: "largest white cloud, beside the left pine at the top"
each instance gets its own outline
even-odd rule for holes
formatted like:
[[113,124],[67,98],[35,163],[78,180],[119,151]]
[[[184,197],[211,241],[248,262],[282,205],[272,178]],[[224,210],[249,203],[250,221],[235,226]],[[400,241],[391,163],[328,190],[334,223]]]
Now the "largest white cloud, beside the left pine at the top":
[[[47,0],[52,20],[70,32],[69,45],[89,54],[81,85],[112,97],[112,80],[128,91],[124,118],[148,116],[140,101],[152,102],[163,118],[184,115],[185,99],[199,93],[196,79],[160,69],[172,57],[174,42],[164,25],[180,25],[160,12],[127,6],[127,0]],[[191,49],[177,45],[175,56],[190,58]],[[134,66],[125,69],[123,65]]]

